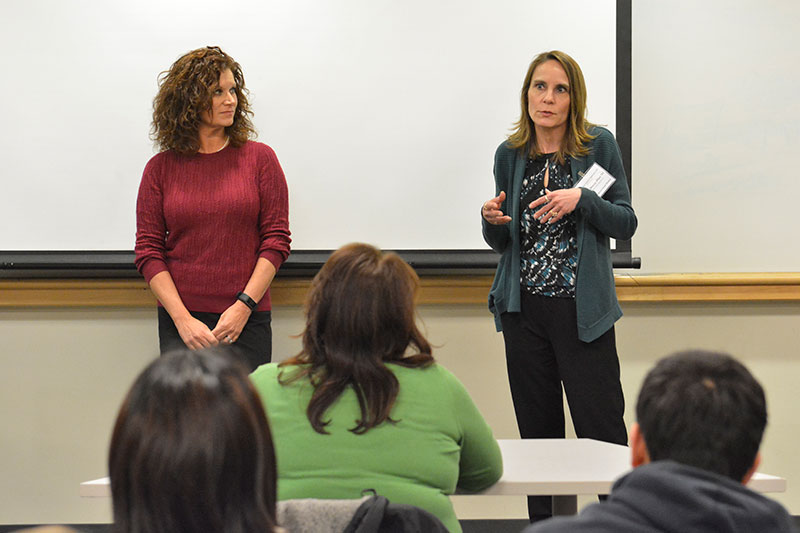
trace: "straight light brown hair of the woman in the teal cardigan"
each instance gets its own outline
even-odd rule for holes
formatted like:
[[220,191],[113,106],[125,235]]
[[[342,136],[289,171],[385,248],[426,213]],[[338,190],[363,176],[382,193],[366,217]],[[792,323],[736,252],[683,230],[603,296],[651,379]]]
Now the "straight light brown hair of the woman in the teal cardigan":
[[542,52],[531,61],[528,72],[525,74],[525,81],[522,84],[520,95],[522,113],[519,120],[514,123],[511,135],[508,136],[508,146],[515,150],[524,149],[530,157],[535,158],[540,155],[539,147],[536,143],[536,129],[528,112],[528,89],[536,67],[550,60],[557,61],[561,65],[567,74],[569,82],[567,132],[561,149],[556,153],[556,159],[563,164],[566,156],[582,157],[587,155],[589,149],[586,145],[595,136],[588,131],[593,124],[586,120],[586,82],[583,79],[581,67],[577,61],[559,50]]

